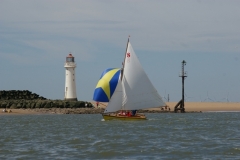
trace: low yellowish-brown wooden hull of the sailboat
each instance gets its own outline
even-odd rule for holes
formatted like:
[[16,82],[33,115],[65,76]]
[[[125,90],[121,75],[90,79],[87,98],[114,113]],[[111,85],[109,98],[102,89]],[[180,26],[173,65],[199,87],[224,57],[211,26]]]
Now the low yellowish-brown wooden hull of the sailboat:
[[118,115],[115,113],[111,114],[102,114],[103,119],[105,120],[114,120],[114,119],[119,119],[119,120],[147,120],[146,116],[144,114],[137,114],[135,116],[124,116],[124,115]]

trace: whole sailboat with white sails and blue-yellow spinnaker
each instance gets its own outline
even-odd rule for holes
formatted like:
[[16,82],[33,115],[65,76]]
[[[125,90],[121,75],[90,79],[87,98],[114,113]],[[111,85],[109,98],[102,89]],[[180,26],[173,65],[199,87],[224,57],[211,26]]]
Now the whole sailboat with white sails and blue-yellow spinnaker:
[[146,120],[144,114],[136,111],[166,106],[143,70],[129,38],[122,65],[103,71],[94,90],[93,100],[108,102],[102,114],[105,120]]

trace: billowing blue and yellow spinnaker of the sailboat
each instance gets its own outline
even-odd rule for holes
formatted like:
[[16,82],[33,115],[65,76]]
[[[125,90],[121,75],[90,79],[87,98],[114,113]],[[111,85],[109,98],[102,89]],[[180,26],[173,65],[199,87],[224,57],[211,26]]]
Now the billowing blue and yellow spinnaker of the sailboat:
[[120,68],[109,68],[103,71],[94,90],[94,101],[109,102],[117,87],[120,73]]

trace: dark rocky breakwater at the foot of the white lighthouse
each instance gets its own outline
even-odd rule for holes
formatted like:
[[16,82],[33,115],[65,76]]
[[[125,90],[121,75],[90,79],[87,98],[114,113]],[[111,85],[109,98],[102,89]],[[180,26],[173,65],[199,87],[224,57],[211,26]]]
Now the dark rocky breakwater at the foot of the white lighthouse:
[[0,108],[57,114],[96,114],[104,111],[104,109],[94,108],[91,102],[49,100],[28,90],[0,91]]

